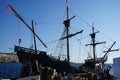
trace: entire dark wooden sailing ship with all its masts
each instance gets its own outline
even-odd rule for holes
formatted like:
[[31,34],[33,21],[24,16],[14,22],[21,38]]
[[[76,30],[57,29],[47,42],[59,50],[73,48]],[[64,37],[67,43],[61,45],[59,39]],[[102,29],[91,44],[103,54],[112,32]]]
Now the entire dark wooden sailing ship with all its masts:
[[[32,65],[36,65],[36,61],[38,61],[39,64],[41,64],[43,67],[50,67],[52,69],[56,69],[56,71],[58,73],[70,73],[71,76],[82,76],[82,77],[87,77],[88,79],[90,79],[92,77],[92,74],[95,74],[96,77],[102,76],[101,74],[104,74],[104,71],[102,70],[103,68],[103,64],[107,61],[107,54],[111,51],[118,51],[118,49],[115,50],[111,50],[112,47],[114,46],[114,44],[116,42],[114,42],[112,44],[112,46],[108,49],[108,51],[105,51],[105,55],[103,57],[97,58],[96,57],[96,53],[95,53],[95,47],[98,44],[102,44],[105,42],[99,42],[96,43],[95,42],[95,36],[96,33],[98,32],[94,32],[94,26],[92,27],[92,34],[90,34],[91,39],[92,39],[92,43],[91,44],[87,44],[88,45],[92,45],[93,46],[93,58],[91,59],[86,59],[85,63],[79,67],[79,69],[76,69],[74,67],[72,67],[70,65],[70,55],[69,55],[69,38],[82,33],[83,30],[76,32],[74,34],[69,34],[69,26],[70,26],[70,21],[71,19],[73,19],[75,16],[69,18],[69,8],[68,6],[66,7],[66,11],[67,11],[67,19],[63,22],[65,25],[65,29],[66,29],[66,36],[60,38],[60,40],[66,39],[67,40],[67,59],[65,60],[60,60],[60,59],[56,59],[52,56],[47,55],[47,53],[45,51],[39,51],[37,50],[36,47],[36,40],[35,37],[38,38],[38,40],[40,40],[40,42],[43,44],[44,47],[47,47],[44,42],[38,37],[38,35],[34,32],[34,25],[33,25],[33,21],[32,21],[32,28],[24,21],[24,19],[14,10],[14,8],[11,5],[8,5],[8,7],[10,7],[10,9],[12,10],[12,12],[14,13],[14,15],[20,19],[28,28],[29,30],[33,33],[34,35],[34,45],[35,45],[35,49],[30,49],[30,48],[25,48],[25,47],[21,47],[21,46],[15,46],[14,50],[17,53],[20,62],[25,65],[25,64],[32,64]],[[97,66],[98,64],[98,66]],[[33,72],[36,72],[37,74],[37,67],[34,67]],[[90,76],[89,76],[90,75]],[[101,78],[102,80],[103,78]]]

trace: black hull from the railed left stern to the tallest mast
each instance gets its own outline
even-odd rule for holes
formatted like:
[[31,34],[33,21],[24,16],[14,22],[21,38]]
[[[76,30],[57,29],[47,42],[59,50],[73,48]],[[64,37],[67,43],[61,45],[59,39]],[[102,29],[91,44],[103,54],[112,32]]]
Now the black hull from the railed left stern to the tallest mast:
[[37,51],[39,54],[35,54],[33,49],[23,48],[15,46],[15,52],[18,55],[19,61],[22,64],[27,62],[35,63],[35,60],[39,62],[43,67],[50,67],[56,69],[57,72],[71,72],[71,66],[67,61],[60,61],[53,59],[43,51]]

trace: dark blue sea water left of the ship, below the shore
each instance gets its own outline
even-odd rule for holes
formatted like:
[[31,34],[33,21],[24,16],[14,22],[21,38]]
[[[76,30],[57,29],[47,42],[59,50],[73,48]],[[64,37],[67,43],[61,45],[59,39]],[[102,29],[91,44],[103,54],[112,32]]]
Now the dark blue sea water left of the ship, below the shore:
[[0,63],[0,79],[19,78],[21,63]]

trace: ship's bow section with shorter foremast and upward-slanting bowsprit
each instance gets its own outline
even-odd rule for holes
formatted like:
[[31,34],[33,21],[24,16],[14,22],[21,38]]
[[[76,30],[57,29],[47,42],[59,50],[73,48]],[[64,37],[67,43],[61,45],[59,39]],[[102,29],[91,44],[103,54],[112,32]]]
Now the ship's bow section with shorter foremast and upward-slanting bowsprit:
[[96,45],[98,44],[103,44],[106,42],[96,42],[96,33],[98,33],[99,31],[95,32],[94,29],[94,24],[92,24],[92,33],[90,34],[90,37],[92,39],[92,43],[91,44],[87,44],[86,46],[92,46],[93,47],[93,58],[91,59],[86,59],[85,60],[85,66],[88,67],[89,69],[95,70],[97,68],[96,64],[99,64],[100,69],[102,69],[103,64],[107,61],[107,54],[109,52],[112,51],[118,51],[119,49],[112,49],[112,47],[115,45],[116,41],[111,45],[110,48],[108,48],[107,51],[103,51],[105,53],[105,55],[103,57],[97,57],[96,56]]

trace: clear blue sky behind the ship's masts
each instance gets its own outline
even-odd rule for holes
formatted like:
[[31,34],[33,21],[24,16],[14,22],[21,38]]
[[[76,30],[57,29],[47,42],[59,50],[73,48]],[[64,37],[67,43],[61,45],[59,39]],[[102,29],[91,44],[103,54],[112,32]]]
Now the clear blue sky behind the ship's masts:
[[[59,39],[64,29],[65,0],[0,0],[0,52],[13,52],[10,48],[18,45],[19,38],[22,39],[21,46],[24,47],[30,47],[32,42],[31,32],[12,11],[7,10],[8,4],[30,26],[31,20],[34,20],[36,33],[48,46],[46,49],[37,41],[38,49],[52,53],[55,43],[49,42]],[[71,33],[84,30],[82,34],[70,39],[71,61],[83,62],[88,52],[92,55],[92,48],[85,47],[85,44],[91,41],[89,34],[92,23],[96,31],[100,31],[96,41],[107,42],[97,46],[98,57],[103,56],[102,50],[109,48],[114,41],[117,42],[114,49],[120,47],[120,0],[68,0],[68,6],[69,17],[76,16],[71,20]],[[108,62],[111,63],[113,58],[119,56],[119,51],[110,53]]]

